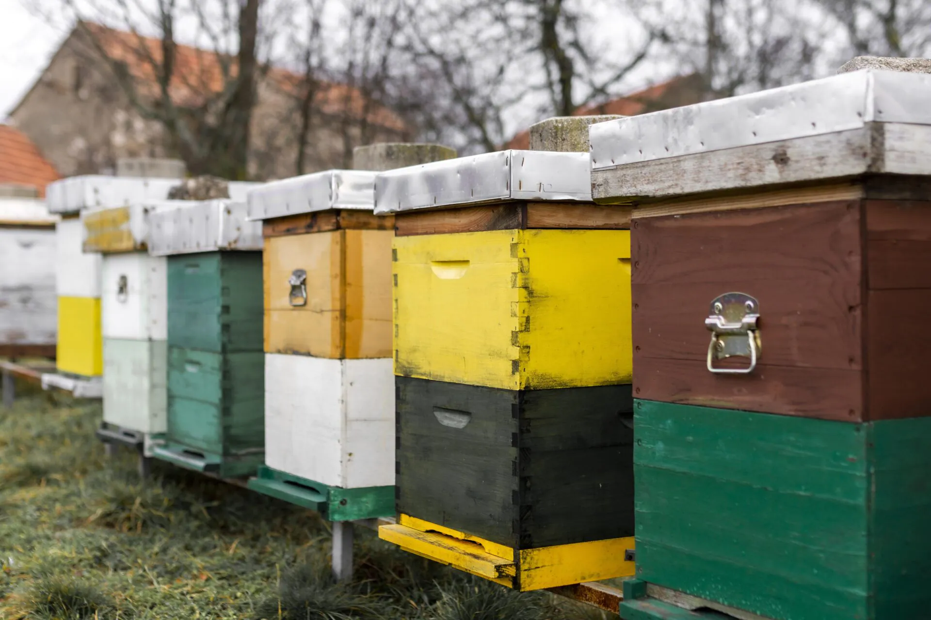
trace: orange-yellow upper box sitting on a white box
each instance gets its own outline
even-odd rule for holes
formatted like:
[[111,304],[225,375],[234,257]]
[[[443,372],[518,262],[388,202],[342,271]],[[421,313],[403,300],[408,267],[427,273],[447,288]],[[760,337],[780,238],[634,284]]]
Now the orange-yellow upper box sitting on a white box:
[[[265,351],[390,357],[393,236],[340,230],[265,238]],[[307,273],[304,306],[289,298],[298,269]]]

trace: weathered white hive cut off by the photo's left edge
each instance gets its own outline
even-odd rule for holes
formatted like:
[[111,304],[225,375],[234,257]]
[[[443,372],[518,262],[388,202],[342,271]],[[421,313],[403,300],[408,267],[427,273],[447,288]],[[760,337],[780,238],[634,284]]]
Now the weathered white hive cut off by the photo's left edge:
[[0,198],[0,355],[55,354],[55,223],[39,200]]

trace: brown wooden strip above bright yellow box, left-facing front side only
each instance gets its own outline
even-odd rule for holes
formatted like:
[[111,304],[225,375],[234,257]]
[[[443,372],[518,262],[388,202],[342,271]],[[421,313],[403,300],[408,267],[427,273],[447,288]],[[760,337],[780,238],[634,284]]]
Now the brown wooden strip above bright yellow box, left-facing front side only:
[[395,234],[407,237],[417,234],[522,229],[522,206],[521,203],[512,202],[398,213],[395,216]]

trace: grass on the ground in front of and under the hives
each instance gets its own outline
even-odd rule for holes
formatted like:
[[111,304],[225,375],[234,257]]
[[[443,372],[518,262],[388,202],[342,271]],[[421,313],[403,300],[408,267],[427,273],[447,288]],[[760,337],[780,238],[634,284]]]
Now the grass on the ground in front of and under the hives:
[[363,528],[356,581],[334,583],[316,514],[160,462],[142,483],[134,454],[103,455],[99,403],[18,388],[0,407],[2,620],[592,617]]

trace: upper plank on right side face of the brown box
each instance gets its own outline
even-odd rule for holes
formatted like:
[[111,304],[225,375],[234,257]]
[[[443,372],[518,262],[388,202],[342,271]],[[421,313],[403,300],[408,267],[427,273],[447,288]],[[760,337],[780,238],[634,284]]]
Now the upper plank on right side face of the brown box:
[[869,200],[870,290],[931,288],[931,201]]

